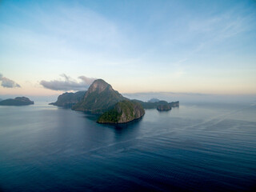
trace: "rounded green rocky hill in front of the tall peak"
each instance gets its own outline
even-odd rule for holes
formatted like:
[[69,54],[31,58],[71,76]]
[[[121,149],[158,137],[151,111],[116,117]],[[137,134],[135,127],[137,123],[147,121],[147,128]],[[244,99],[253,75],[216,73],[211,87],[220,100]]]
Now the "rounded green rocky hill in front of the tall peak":
[[99,123],[125,123],[141,118],[145,110],[138,102],[118,102],[114,109],[107,111],[98,118]]

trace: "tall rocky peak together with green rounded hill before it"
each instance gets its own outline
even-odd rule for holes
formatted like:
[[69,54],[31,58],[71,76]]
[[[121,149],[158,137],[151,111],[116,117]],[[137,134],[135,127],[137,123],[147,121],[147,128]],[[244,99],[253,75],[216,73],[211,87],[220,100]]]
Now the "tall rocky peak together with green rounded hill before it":
[[141,118],[145,110],[140,103],[130,101],[102,79],[95,80],[84,98],[72,107],[73,110],[102,114],[99,123],[125,123]]

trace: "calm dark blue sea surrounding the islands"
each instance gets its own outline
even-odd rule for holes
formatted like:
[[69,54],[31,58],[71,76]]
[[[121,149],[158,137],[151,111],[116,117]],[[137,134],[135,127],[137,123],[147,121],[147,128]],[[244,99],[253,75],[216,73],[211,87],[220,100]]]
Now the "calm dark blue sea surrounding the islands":
[[256,106],[186,104],[141,121],[0,106],[2,191],[256,191]]

